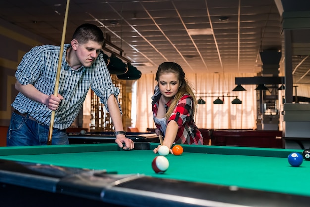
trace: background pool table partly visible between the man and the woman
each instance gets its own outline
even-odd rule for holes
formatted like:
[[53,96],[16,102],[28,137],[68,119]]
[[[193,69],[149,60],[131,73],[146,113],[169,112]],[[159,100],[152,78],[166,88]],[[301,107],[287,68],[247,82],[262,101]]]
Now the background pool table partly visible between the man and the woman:
[[[159,137],[155,133],[149,132],[126,132],[126,137],[134,142],[156,142],[159,143]],[[98,144],[114,143],[114,132],[86,132],[86,133],[68,133],[70,144]]]

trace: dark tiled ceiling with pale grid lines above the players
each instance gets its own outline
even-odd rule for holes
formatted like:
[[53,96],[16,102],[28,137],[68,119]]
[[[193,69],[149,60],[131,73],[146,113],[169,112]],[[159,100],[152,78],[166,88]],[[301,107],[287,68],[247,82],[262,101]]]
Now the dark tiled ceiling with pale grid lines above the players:
[[[259,52],[282,50],[284,56],[275,1],[280,0],[70,0],[65,43],[78,25],[93,23],[117,46],[106,48],[142,74],[155,73],[165,61],[187,73],[260,73]],[[1,0],[0,18],[60,45],[66,3]],[[296,1],[294,8],[301,9]],[[310,83],[309,68],[305,52],[293,55],[294,82]]]

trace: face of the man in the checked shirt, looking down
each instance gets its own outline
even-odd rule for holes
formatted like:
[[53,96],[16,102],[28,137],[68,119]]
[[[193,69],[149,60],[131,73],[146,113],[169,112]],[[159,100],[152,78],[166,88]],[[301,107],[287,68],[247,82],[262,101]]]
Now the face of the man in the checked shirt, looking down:
[[84,67],[90,67],[98,57],[102,44],[89,40],[84,44],[76,44],[76,55]]

